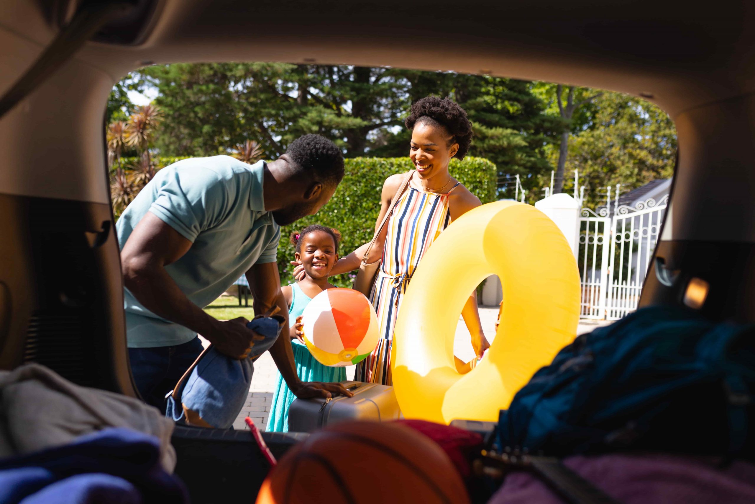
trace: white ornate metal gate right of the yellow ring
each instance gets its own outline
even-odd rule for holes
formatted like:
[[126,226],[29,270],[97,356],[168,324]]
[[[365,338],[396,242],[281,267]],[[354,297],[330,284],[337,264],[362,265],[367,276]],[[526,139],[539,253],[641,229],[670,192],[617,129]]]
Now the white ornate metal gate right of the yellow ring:
[[582,318],[618,320],[636,310],[667,204],[664,196],[611,209],[609,196],[609,205],[597,213],[582,209]]

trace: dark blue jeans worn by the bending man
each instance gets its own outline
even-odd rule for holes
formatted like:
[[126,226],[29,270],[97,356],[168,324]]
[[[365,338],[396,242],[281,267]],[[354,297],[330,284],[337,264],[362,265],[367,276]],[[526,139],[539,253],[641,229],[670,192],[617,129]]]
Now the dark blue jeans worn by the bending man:
[[199,338],[172,347],[129,348],[131,374],[146,403],[165,412],[165,395],[201,353]]

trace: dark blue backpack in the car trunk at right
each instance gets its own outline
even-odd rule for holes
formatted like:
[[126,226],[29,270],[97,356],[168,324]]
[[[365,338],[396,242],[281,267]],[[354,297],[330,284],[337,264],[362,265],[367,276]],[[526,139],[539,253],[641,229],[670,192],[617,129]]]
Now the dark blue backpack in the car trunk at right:
[[581,335],[501,411],[501,448],[755,459],[755,326],[645,308]]

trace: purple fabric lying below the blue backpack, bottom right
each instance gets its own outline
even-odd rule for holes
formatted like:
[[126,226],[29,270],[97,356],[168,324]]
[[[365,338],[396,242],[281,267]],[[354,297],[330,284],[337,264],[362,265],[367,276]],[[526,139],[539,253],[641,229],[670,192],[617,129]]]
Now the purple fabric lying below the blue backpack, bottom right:
[[[701,459],[669,455],[572,456],[565,465],[624,504],[750,504],[755,465],[736,461],[723,469]],[[508,475],[488,504],[561,504],[526,472]]]

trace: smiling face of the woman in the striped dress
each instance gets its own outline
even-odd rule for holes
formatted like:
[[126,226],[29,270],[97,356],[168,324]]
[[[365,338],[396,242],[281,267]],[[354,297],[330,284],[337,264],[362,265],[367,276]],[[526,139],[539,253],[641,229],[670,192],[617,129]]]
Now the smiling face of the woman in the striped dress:
[[448,162],[459,150],[459,144],[448,145],[451,138],[437,126],[418,122],[411,131],[409,157],[420,178],[428,179],[448,173]]

